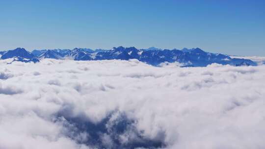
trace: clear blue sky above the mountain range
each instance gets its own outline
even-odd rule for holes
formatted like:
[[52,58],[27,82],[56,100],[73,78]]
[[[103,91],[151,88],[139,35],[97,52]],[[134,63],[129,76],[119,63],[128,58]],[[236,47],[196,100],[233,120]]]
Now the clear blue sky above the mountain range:
[[118,46],[265,56],[265,0],[0,0],[0,50]]

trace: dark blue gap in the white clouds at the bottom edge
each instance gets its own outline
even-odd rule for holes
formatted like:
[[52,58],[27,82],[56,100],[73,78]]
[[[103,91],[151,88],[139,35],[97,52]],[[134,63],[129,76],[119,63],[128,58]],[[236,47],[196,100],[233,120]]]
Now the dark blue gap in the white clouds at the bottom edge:
[[[66,128],[65,135],[95,148],[107,149],[157,149],[165,147],[164,133],[159,139],[149,139],[137,130],[137,121],[129,119],[125,113],[110,112],[98,123],[93,123],[85,116],[69,117],[69,111],[60,111],[56,121]],[[56,122],[55,121],[55,122]]]

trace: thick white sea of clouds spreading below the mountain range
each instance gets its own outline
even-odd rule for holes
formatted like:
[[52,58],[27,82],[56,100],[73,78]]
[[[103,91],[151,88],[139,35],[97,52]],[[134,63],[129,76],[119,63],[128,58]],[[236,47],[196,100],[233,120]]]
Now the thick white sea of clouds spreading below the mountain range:
[[0,149],[265,149],[265,66],[0,61]]

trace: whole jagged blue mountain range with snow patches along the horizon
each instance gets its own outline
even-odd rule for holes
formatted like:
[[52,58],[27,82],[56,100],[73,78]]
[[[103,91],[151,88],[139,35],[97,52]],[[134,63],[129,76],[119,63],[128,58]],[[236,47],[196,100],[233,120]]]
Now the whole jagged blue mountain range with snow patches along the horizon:
[[15,50],[0,51],[1,59],[15,58],[14,61],[38,62],[39,59],[73,59],[73,60],[129,60],[137,59],[141,62],[158,66],[161,63],[182,63],[184,67],[205,67],[212,63],[233,65],[233,66],[256,66],[257,64],[249,59],[231,58],[229,55],[211,53],[199,48],[183,50],[162,50],[155,47],[149,49],[136,49],[134,47],[117,47],[111,50],[91,50],[86,48],[54,49],[54,50],[33,50],[29,52],[24,48]]

